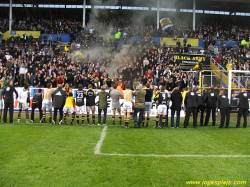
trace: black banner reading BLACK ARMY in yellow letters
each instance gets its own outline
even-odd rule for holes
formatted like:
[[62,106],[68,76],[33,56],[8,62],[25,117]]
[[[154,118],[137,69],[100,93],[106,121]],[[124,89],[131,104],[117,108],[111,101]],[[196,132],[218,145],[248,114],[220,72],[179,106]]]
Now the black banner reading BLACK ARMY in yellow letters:
[[205,55],[189,55],[189,54],[169,54],[170,58],[176,59],[177,64],[181,65],[196,65],[201,59],[203,65],[210,65],[210,57]]

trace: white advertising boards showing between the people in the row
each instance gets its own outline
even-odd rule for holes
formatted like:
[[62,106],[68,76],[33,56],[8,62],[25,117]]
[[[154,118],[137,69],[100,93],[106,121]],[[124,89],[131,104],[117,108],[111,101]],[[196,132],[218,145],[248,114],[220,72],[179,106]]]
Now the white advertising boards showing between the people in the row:
[[[30,88],[30,106],[29,106],[29,111],[31,111],[31,107],[32,107],[32,100],[33,100],[33,96],[35,93],[38,93],[38,89],[42,89],[42,93],[44,92],[44,90],[46,88]],[[20,93],[21,91],[23,91],[23,88],[16,88],[17,92]],[[84,91],[86,91],[87,89],[84,89]],[[100,92],[100,89],[94,89],[96,93]],[[76,98],[76,91],[77,89],[73,89],[73,96],[74,98]],[[106,90],[106,92],[109,92],[109,90]],[[14,94],[15,95],[15,94]],[[134,97],[132,98],[132,100],[134,101]],[[86,102],[86,100],[85,100]],[[99,97],[97,96],[95,99],[95,105],[96,105],[96,110],[95,113],[98,114],[98,103],[99,103]],[[120,104],[121,104],[121,108],[123,107],[123,103],[124,103],[124,99],[120,99]],[[111,106],[112,106],[112,100],[109,98],[108,99],[108,108],[107,108],[107,115],[113,115],[113,111],[111,110]],[[170,106],[171,106],[171,102],[170,102]],[[52,108],[53,110],[53,108]],[[14,111],[19,111],[18,108],[18,99],[16,100],[15,96],[14,96]],[[35,110],[36,112],[38,112],[38,109]],[[122,115],[124,114],[123,110],[122,111]],[[118,113],[117,113],[118,114]],[[157,114],[157,109],[156,109],[156,103],[152,100],[152,109],[151,109],[151,116],[156,116]],[[168,111],[168,115],[171,115],[171,110],[169,109]],[[181,111],[181,117],[184,117],[184,112]]]

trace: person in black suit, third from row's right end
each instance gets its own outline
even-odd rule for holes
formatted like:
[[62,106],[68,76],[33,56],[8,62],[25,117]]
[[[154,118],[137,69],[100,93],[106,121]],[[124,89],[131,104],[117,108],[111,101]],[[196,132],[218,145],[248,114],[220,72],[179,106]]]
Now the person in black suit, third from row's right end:
[[217,105],[217,94],[214,92],[214,88],[211,88],[210,92],[207,93],[205,103],[206,103],[207,114],[206,114],[204,126],[208,125],[211,111],[212,111],[212,120],[213,120],[212,125],[215,126],[215,122],[216,122],[215,113],[216,113],[216,107],[217,107],[216,106]]

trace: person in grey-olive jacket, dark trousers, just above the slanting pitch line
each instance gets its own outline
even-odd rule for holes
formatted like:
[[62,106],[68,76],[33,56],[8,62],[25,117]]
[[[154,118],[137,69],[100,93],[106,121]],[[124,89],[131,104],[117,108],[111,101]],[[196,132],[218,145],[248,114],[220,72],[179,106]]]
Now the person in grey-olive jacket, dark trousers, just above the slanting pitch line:
[[99,96],[99,105],[98,105],[98,125],[101,125],[101,114],[103,111],[103,120],[102,124],[106,125],[106,117],[107,117],[107,108],[108,108],[108,97],[109,93],[105,91],[106,86],[101,86],[101,91],[97,93]]

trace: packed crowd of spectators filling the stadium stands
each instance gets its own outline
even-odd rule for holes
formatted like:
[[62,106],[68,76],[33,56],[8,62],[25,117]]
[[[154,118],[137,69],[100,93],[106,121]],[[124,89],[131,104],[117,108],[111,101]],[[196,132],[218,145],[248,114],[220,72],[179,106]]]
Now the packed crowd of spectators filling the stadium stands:
[[[118,18],[119,19],[119,18]],[[7,24],[7,19],[1,19],[0,24]],[[100,88],[103,84],[111,87],[112,83],[125,83],[131,88],[139,82],[147,82],[155,86],[165,85],[172,91],[176,85],[181,90],[187,86],[197,85],[195,72],[183,71],[180,64],[169,56],[169,53],[205,54],[214,57],[218,64],[229,69],[250,70],[250,52],[246,45],[241,45],[244,38],[248,38],[248,28],[225,26],[227,23],[198,24],[195,31],[188,26],[176,26],[170,33],[174,36],[184,37],[186,41],[177,41],[176,46],[160,45],[153,36],[168,35],[166,32],[157,31],[153,25],[130,25],[130,20],[100,19],[95,24],[87,24],[82,28],[81,22],[60,19],[45,19],[33,16],[15,18],[15,30],[40,30],[42,34],[70,34],[71,48],[65,51],[64,45],[58,42],[44,42],[33,38],[27,41],[13,40],[6,43],[6,48],[0,51],[0,80],[6,82],[12,79],[14,86],[29,84],[33,87],[45,87],[47,83],[68,83],[77,88],[81,83],[84,88],[92,84]],[[185,28],[184,28],[185,27]],[[139,43],[128,40],[126,53],[122,53],[121,46],[116,42],[106,41],[103,35],[113,36],[121,31],[123,36],[141,36],[144,39]],[[126,35],[124,35],[126,33]],[[188,38],[204,38],[205,48],[194,49],[188,45]],[[235,47],[225,45],[223,40],[235,39]],[[217,40],[217,43],[215,42]],[[218,45],[221,41],[222,45]],[[178,43],[179,42],[179,43]],[[79,44],[79,45],[78,45]],[[94,56],[91,51],[103,48],[101,55]],[[76,57],[76,52],[91,53],[89,56]],[[80,52],[81,53],[81,52]],[[94,56],[94,57],[93,57]],[[197,70],[197,69],[196,69]]]

